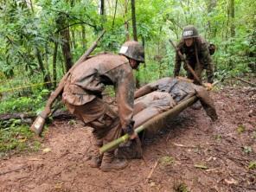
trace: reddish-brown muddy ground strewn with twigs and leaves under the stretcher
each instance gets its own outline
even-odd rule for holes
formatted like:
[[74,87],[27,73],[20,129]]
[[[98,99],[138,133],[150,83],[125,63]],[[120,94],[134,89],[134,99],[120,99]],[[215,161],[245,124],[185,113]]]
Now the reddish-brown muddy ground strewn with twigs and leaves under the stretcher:
[[0,191],[256,191],[256,89],[211,95],[216,122],[188,108],[144,140],[144,160],[109,173],[88,166],[89,128],[55,120],[40,151],[0,160]]

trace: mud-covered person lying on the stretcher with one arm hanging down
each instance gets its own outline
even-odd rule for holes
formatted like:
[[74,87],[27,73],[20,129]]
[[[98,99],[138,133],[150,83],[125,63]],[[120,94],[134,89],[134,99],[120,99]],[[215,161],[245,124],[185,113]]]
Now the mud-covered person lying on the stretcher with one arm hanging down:
[[[196,86],[187,80],[165,77],[142,86],[135,92],[133,120],[134,128],[143,125],[147,120],[166,112],[185,99],[196,96],[208,116],[215,121],[218,116],[214,101],[202,86]],[[142,150],[139,139],[129,141],[116,151],[118,158],[140,158]]]

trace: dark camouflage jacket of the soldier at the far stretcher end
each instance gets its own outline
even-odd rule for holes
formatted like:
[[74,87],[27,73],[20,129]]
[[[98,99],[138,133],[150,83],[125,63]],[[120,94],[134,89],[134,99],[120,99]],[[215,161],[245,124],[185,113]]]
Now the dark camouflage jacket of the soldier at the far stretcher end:
[[[189,65],[195,70],[195,74],[202,79],[202,70],[206,69],[206,74],[208,77],[208,83],[213,83],[214,81],[214,63],[211,59],[208,50],[208,42],[206,42],[202,37],[195,38],[195,42],[191,47],[187,47],[184,40],[179,42],[177,48],[182,54],[185,54],[185,60],[188,61]],[[198,61],[196,59],[196,52],[198,55]],[[174,76],[178,76],[182,64],[182,59],[179,54],[176,53],[176,63],[174,68]],[[189,79],[194,80],[193,74],[189,72],[188,67],[184,63],[184,69],[187,71],[187,76]]]

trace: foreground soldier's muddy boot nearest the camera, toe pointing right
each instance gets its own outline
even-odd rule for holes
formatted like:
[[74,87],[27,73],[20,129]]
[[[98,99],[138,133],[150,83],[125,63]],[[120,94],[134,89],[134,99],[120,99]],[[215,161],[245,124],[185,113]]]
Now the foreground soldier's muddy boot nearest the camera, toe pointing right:
[[104,153],[100,170],[104,172],[112,170],[123,170],[128,165],[126,160],[119,160],[114,158],[113,151]]

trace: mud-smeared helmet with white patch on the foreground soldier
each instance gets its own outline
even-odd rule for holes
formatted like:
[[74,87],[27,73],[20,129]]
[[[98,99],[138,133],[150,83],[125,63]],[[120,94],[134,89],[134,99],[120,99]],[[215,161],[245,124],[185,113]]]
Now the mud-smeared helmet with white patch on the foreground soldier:
[[128,41],[122,45],[119,54],[123,54],[135,61],[144,62],[144,47],[135,41]]

